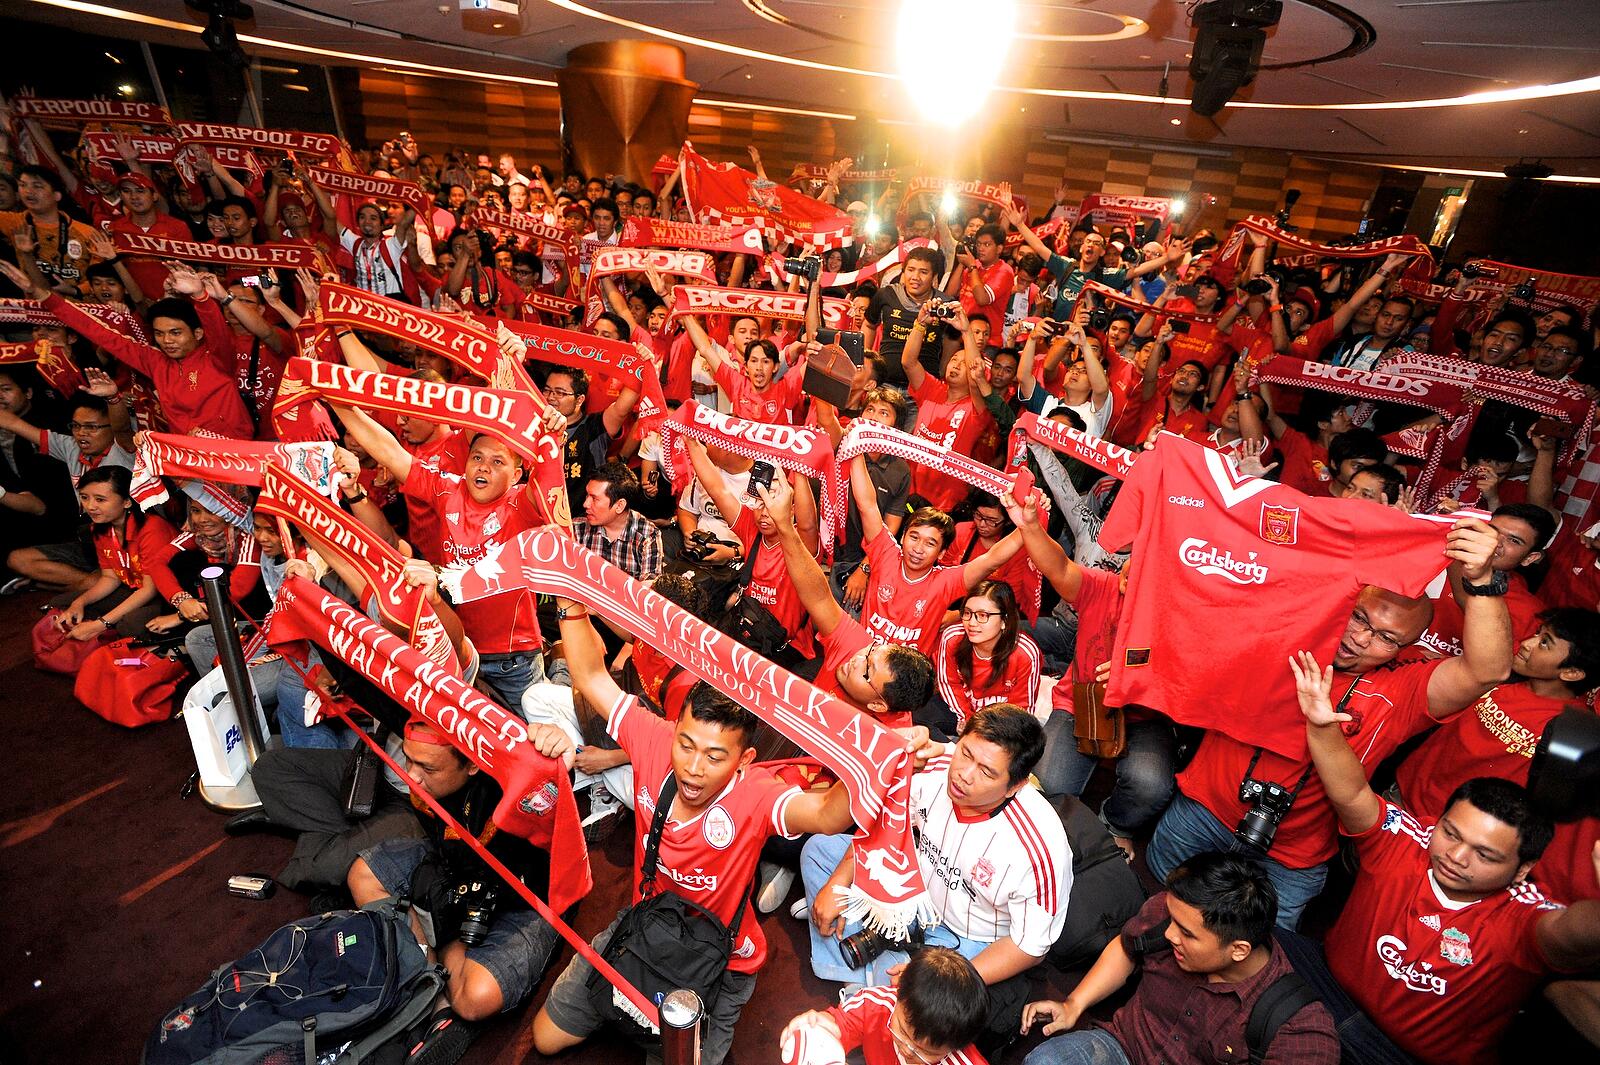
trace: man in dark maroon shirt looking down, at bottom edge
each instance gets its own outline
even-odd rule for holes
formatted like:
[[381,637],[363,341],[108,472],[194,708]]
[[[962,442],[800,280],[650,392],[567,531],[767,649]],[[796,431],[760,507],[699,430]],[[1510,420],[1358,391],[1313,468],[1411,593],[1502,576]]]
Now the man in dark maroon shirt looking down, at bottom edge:
[[[1024,1031],[1045,1022],[1046,1036],[1067,1035],[1035,1047],[1026,1065],[1237,1062],[1246,1055],[1259,1065],[1338,1065],[1333,1019],[1315,1001],[1285,1017],[1267,1046],[1250,1044],[1258,1004],[1280,980],[1294,979],[1272,940],[1277,902],[1272,881],[1254,862],[1216,851],[1194,856],[1106,945],[1066,1001],[1027,1004]],[[1078,1028],[1085,1011],[1134,975],[1133,998],[1109,1023]]]

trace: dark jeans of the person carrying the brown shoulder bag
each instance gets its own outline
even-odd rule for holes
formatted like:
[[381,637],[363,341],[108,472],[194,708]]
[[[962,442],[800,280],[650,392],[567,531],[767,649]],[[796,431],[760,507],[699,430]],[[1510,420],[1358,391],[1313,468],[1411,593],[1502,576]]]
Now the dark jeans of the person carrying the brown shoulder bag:
[[[1040,619],[1043,620],[1043,619]],[[1062,684],[1072,681],[1062,678]],[[1038,760],[1038,785],[1045,795],[1083,795],[1099,760],[1078,752],[1074,718],[1054,710],[1045,721],[1045,756]],[[1155,820],[1176,790],[1178,740],[1165,720],[1133,721],[1128,750],[1117,758],[1117,784],[1101,806],[1101,820],[1114,836],[1131,840]]]

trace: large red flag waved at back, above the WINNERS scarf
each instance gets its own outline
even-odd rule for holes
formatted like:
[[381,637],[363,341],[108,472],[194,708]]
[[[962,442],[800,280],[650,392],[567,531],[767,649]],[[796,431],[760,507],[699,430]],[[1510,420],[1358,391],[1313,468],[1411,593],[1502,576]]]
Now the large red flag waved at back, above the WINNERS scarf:
[[698,222],[754,225],[768,246],[787,240],[826,251],[846,248],[854,240],[854,224],[837,206],[784,185],[763,185],[750,171],[734,163],[712,163],[690,144],[683,146],[680,158],[683,198]]

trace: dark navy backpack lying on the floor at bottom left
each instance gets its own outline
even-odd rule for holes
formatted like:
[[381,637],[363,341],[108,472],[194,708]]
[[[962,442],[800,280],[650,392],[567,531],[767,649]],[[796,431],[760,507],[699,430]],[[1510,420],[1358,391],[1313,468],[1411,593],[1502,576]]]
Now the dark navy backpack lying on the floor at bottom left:
[[338,1065],[378,1062],[445,988],[408,910],[381,899],[285,924],[168,1012],[142,1063],[314,1065],[333,1051]]

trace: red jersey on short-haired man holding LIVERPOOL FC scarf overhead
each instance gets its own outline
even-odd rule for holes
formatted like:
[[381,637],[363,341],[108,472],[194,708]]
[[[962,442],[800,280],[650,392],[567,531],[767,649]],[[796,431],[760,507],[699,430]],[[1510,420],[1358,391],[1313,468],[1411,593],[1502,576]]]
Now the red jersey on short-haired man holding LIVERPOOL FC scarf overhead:
[[[467,496],[459,477],[413,462],[400,491],[408,501],[422,501],[438,512],[442,539],[435,561],[482,566],[485,579],[491,582],[490,574],[499,569],[496,556],[501,548],[523,529],[542,525],[522,485],[514,485],[491,504],[478,504]],[[456,614],[480,654],[538,651],[544,644],[539,636],[538,596],[525,588],[462,603]]]

